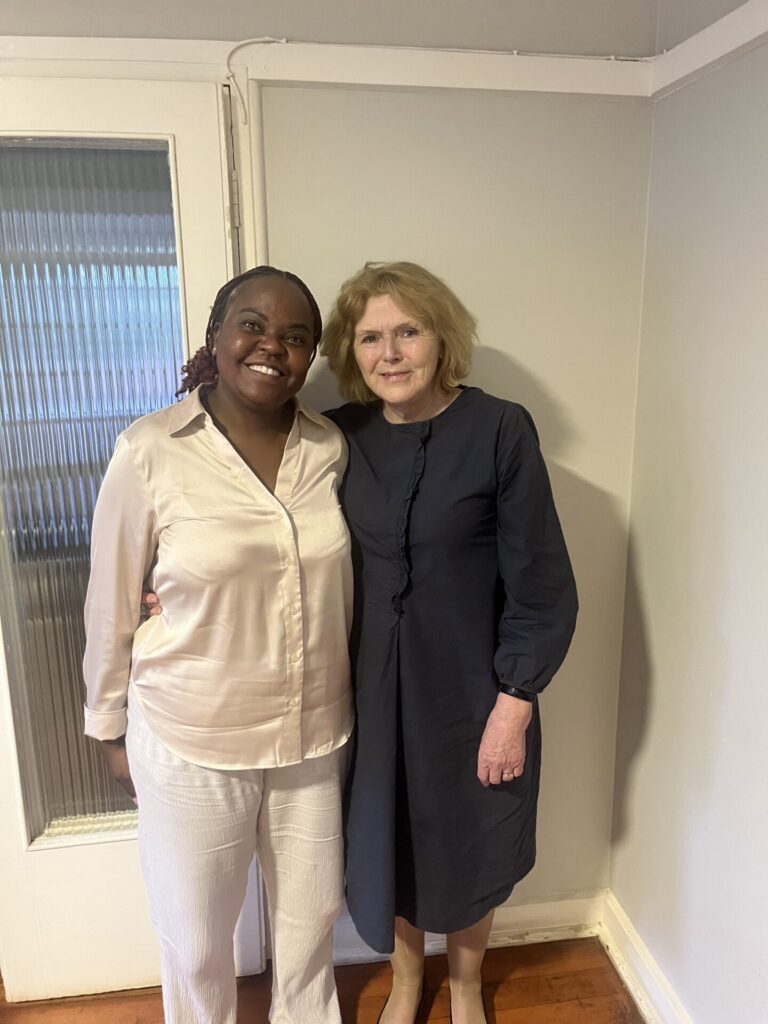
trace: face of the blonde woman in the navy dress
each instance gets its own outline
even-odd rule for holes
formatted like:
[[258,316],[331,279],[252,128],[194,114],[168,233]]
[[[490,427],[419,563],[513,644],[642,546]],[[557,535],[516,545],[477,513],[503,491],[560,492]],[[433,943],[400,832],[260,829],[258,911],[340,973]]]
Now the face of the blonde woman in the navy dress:
[[354,357],[366,384],[387,410],[433,415],[444,401],[437,384],[440,340],[391,295],[372,296],[354,329]]

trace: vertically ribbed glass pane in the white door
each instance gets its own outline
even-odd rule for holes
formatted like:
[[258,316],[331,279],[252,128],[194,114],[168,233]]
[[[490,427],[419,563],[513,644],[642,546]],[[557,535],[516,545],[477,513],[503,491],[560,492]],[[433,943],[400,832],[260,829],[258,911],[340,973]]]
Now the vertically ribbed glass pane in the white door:
[[34,838],[132,807],[82,735],[83,603],[115,438],[183,359],[167,145],[0,140],[0,621]]

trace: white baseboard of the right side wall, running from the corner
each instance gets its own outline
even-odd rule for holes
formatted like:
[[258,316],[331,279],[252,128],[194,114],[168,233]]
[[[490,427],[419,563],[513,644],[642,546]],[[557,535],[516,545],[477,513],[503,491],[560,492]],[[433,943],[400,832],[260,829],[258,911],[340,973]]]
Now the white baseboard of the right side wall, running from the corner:
[[646,1024],[693,1024],[610,890],[605,894],[598,936]]

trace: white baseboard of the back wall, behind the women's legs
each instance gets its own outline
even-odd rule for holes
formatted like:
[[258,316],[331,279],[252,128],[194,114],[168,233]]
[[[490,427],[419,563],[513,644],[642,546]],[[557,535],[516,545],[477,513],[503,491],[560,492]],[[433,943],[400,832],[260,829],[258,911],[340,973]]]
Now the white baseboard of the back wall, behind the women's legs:
[[[496,911],[488,944],[516,946],[597,935],[604,899],[603,890],[578,896],[555,897],[539,903],[516,903],[513,898]],[[427,953],[440,953],[444,950],[445,937],[427,933]],[[334,962],[359,964],[380,959],[386,959],[386,956],[367,946],[357,935],[352,919],[348,913],[343,914],[336,923]]]

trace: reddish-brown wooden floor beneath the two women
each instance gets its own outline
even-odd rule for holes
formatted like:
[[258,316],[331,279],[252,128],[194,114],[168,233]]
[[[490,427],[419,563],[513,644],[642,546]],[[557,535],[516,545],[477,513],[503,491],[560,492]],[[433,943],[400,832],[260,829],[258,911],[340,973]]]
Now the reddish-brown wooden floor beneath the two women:
[[[389,989],[386,964],[337,969],[344,1024],[376,1024]],[[597,939],[492,949],[483,968],[488,1024],[642,1024]],[[430,956],[419,1024],[450,1021],[444,956]],[[238,1024],[266,1024],[268,975],[244,978]],[[49,1002],[7,1004],[2,1024],[162,1024],[157,988]]]

